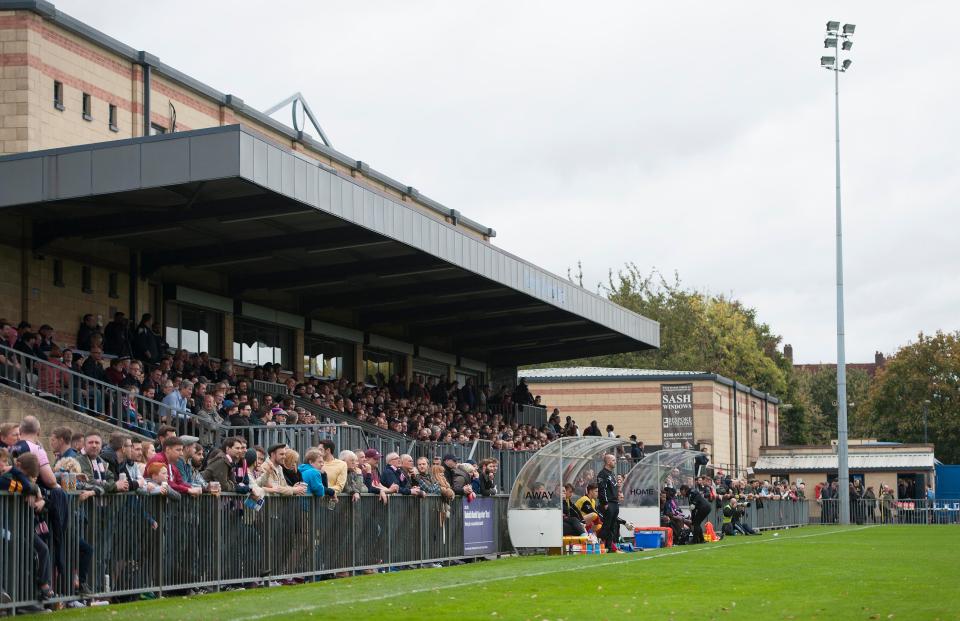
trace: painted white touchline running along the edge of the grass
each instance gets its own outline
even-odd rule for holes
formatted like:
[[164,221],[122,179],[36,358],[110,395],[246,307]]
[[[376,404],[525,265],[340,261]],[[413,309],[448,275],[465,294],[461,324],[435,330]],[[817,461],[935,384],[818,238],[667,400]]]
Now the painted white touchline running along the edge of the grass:
[[[325,600],[318,604],[309,604],[305,606],[296,606],[294,608],[285,608],[283,610],[272,610],[270,612],[264,612],[256,615],[248,615],[246,617],[232,617],[235,621],[257,621],[259,619],[269,619],[270,617],[279,617],[282,615],[294,614],[298,612],[308,612],[311,610],[318,610],[321,608],[330,608],[331,606],[349,606],[351,604],[357,604],[361,602],[375,602],[382,601],[385,599],[393,599],[395,597],[403,597],[406,595],[417,595],[419,593],[430,593],[433,591],[441,591],[445,589],[455,589],[459,587],[468,587],[478,584],[487,584],[489,582],[500,582],[503,580],[516,580],[517,578],[532,578],[536,576],[546,576],[550,574],[562,574],[571,571],[581,571],[584,569],[593,569],[593,568],[603,568],[610,567],[612,565],[623,565],[625,563],[636,563],[640,561],[652,561],[658,558],[664,558],[667,556],[678,556],[680,554],[692,554],[694,552],[709,552],[711,550],[721,550],[723,548],[730,548],[733,546],[744,546],[752,545],[757,543],[773,543],[773,542],[782,542],[782,541],[795,541],[797,539],[809,539],[811,537],[823,537],[826,535],[838,535],[843,533],[852,533],[858,530],[865,530],[867,528],[874,528],[874,526],[861,526],[859,528],[845,529],[845,530],[831,530],[825,533],[811,533],[809,535],[797,535],[796,537],[784,537],[783,539],[778,538],[769,538],[763,539],[760,541],[744,541],[743,543],[727,543],[727,544],[718,544],[711,546],[698,546],[696,548],[685,548],[683,550],[675,550],[673,552],[664,552],[663,554],[654,554],[651,556],[633,556],[632,558],[625,558],[618,561],[610,561],[608,563],[599,563],[597,565],[591,565],[589,568],[584,567],[583,565],[577,565],[575,567],[564,567],[562,569],[549,569],[545,571],[535,571],[535,572],[526,572],[522,574],[511,574],[508,576],[493,576],[490,578],[484,578],[482,580],[467,580],[464,582],[457,582],[453,584],[443,584],[434,587],[427,587],[421,589],[405,589],[403,591],[398,591],[396,593],[385,593],[383,595],[374,595],[370,597],[360,597],[357,599],[348,599],[340,601],[330,601]],[[608,557],[609,558],[609,557]],[[496,561],[493,561],[496,562]]]

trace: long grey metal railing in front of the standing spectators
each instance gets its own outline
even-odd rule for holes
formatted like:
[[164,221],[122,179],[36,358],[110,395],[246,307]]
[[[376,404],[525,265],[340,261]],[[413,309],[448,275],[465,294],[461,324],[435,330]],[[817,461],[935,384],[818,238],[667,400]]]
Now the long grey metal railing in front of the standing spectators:
[[[163,594],[193,588],[259,585],[265,580],[310,578],[392,566],[419,566],[511,553],[507,497],[492,506],[490,549],[471,551],[460,498],[377,496],[359,502],[270,497],[262,510],[245,508],[230,494],[183,498],[115,494],[78,501],[67,495],[72,517],[54,564],[60,600]],[[477,502],[477,501],[474,501]],[[0,609],[36,604],[33,511],[23,496],[0,494]],[[419,536],[418,536],[419,535]],[[10,601],[6,601],[9,599]]]

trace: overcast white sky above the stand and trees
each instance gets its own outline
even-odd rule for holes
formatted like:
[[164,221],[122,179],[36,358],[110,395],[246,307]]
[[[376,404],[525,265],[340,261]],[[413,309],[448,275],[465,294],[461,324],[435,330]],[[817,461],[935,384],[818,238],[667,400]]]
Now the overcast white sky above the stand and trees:
[[872,361],[960,327],[958,10],[790,5],[56,2],[260,109],[302,91],[337,149],[557,274],[632,261],[739,298],[798,362],[836,360],[818,65],[826,20],[853,22],[847,359]]

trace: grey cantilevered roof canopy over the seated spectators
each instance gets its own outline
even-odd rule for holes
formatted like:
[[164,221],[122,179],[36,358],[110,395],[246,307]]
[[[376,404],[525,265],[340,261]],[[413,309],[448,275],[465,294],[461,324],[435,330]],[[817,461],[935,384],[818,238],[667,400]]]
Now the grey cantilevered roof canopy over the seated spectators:
[[0,157],[0,208],[35,252],[109,242],[144,277],[494,365],[659,346],[657,322],[239,125]]

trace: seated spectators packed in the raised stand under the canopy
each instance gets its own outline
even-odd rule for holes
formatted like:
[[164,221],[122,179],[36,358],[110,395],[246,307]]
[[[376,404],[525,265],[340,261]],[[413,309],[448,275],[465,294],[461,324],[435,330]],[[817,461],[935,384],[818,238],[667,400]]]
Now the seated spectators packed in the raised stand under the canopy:
[[[148,436],[154,436],[161,424],[175,422],[174,416],[195,417],[201,425],[242,427],[325,422],[292,397],[424,442],[489,440],[495,450],[536,451],[560,436],[580,435],[570,417],[560,424],[556,409],[547,424],[518,422],[518,405],[540,405],[540,397],[532,395],[524,381],[516,388],[501,386],[496,391],[489,385],[478,386],[473,378],[460,385],[456,380],[422,375],[409,383],[399,375],[364,382],[298,381],[285,377],[279,364],[247,367],[221,363],[205,352],[170,351],[159,324],[149,314],[133,327],[123,313],[116,313],[102,330],[93,315],[85,315],[74,349],[55,343],[51,326],[34,333],[26,322],[16,328],[5,320],[0,324],[9,347],[49,363],[37,373],[39,390],[56,396],[68,390],[66,374],[58,375],[57,368],[122,388],[126,391],[122,412],[105,412],[108,406],[102,399],[87,394],[93,389],[84,389],[82,396],[92,413],[106,413],[113,422]],[[0,364],[7,368],[19,362],[4,358]],[[5,375],[14,374],[15,370]],[[257,395],[253,380],[282,383],[286,390]],[[151,409],[152,402],[162,402],[166,408]],[[191,431],[202,435],[199,427]]]

